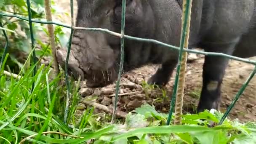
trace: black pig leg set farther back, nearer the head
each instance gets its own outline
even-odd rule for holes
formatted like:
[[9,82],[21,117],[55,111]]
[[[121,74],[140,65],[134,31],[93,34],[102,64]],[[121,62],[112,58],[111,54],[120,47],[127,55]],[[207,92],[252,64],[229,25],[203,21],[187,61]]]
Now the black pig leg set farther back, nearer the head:
[[173,69],[176,67],[177,61],[170,60],[162,64],[162,67],[158,68],[154,75],[152,75],[147,81],[150,85],[158,85],[159,87],[165,86],[171,78]]

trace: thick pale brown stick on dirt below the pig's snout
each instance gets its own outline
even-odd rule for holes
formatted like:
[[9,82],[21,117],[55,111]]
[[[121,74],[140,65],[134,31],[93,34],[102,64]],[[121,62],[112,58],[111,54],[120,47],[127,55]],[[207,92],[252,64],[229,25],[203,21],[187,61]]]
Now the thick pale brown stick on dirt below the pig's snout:
[[[103,110],[104,112],[108,112],[108,113],[112,113],[113,112],[113,110],[109,109],[107,106],[104,106],[102,104],[96,103],[94,101],[86,101],[85,100],[85,101],[83,101],[83,103],[86,104],[86,105],[89,105],[89,106],[93,106],[93,107],[95,107],[97,109]],[[125,118],[127,113],[122,112],[120,110],[117,110],[116,111],[116,115],[117,115],[117,117]]]

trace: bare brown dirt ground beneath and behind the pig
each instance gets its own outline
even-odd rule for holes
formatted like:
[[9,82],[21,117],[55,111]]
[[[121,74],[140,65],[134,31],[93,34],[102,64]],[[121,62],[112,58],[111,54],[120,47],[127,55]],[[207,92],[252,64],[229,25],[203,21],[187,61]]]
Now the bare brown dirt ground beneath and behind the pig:
[[[74,0],[76,2],[76,0]],[[70,24],[70,17],[66,16],[64,12],[70,13],[69,0],[56,1],[58,7],[62,10],[60,13],[64,20],[61,20],[65,24]],[[76,13],[76,3],[75,3]],[[256,60],[256,57],[251,58]],[[184,112],[192,112],[196,109],[198,99],[200,96],[200,90],[202,86],[202,67],[204,62],[204,56],[198,55],[198,59],[187,65],[185,96],[184,96]],[[121,90],[118,101],[118,110],[123,112],[129,112],[141,104],[148,103],[153,104],[157,110],[167,113],[170,107],[170,99],[173,90],[174,75],[166,86],[166,96],[161,91],[151,91],[150,89],[143,88],[141,85],[143,80],[147,80],[157,69],[156,65],[149,65],[135,69],[122,76]],[[221,111],[226,111],[229,104],[235,97],[235,94],[239,91],[250,72],[253,70],[253,65],[245,64],[239,61],[231,60],[229,66],[226,69],[226,75],[222,84],[222,101]],[[83,85],[82,85],[83,87]],[[243,95],[237,101],[237,104],[232,109],[230,118],[239,118],[240,121],[254,121],[256,120],[256,112],[253,109],[256,108],[256,77],[253,78],[251,83],[245,89]],[[96,101],[99,104],[103,104],[107,107],[112,107],[112,101],[114,99],[115,85],[108,85],[101,89],[89,89],[82,88],[81,93],[83,97],[90,95],[97,95]],[[79,109],[83,110],[85,104],[81,99]]]

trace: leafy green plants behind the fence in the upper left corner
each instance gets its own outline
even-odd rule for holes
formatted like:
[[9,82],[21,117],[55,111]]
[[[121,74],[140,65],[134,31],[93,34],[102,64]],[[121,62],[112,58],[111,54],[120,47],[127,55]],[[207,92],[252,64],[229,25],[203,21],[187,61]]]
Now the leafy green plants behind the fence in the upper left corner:
[[[32,19],[46,21],[44,0],[30,0],[30,2]],[[57,11],[57,7],[54,6],[53,1],[51,2],[52,13],[54,14]],[[25,19],[28,18],[27,0],[1,0],[0,3],[1,13],[14,14],[16,16],[21,16]],[[8,58],[8,63],[6,64],[6,66],[13,69],[15,73],[18,73],[23,66],[25,60],[27,59],[28,53],[30,53],[30,51],[32,50],[29,22],[13,16],[0,16],[0,19],[0,22],[3,24],[3,28],[1,29],[9,29],[6,32],[9,40],[8,53],[10,53],[10,57]],[[33,37],[35,39],[37,59],[40,59],[40,57],[43,55],[50,56],[51,47],[46,37],[48,35],[47,28],[43,24],[39,23],[32,23],[32,28]],[[67,32],[63,27],[55,27],[55,39],[57,45],[67,45],[68,35],[66,33]],[[44,35],[46,35],[45,38],[42,37]],[[3,32],[1,32],[0,34],[0,40],[4,42],[0,43],[1,58],[3,56],[3,48],[6,43]]]

